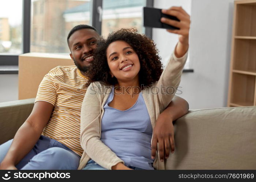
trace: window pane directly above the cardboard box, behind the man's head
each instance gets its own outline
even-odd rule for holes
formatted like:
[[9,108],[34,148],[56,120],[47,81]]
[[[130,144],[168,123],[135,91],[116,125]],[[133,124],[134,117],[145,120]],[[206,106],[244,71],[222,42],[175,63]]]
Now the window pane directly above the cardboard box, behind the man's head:
[[69,52],[70,29],[74,24],[90,24],[90,0],[32,0],[31,7],[31,52]]

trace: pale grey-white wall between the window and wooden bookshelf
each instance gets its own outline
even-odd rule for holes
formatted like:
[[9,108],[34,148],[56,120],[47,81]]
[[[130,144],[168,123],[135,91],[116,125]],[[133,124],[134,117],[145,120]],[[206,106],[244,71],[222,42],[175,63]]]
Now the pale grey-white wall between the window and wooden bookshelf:
[[[233,0],[157,0],[155,7],[182,5],[189,13],[191,31],[189,60],[194,73],[184,73],[181,84],[190,108],[226,107],[230,47],[233,23]],[[165,58],[173,50],[177,36],[154,29],[153,39]]]

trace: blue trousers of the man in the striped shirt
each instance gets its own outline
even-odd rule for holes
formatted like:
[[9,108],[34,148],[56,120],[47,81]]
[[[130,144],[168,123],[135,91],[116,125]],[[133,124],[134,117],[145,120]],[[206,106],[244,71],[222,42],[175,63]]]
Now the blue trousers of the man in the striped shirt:
[[[3,161],[12,140],[0,145]],[[41,135],[33,149],[16,165],[22,170],[71,170],[79,166],[80,156],[64,144]]]

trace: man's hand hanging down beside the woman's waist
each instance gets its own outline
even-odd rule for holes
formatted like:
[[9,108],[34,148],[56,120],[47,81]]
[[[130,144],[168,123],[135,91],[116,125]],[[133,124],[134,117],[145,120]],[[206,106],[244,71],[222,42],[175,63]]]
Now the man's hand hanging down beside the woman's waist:
[[167,159],[169,157],[170,150],[174,153],[174,127],[172,121],[169,116],[163,114],[158,116],[153,130],[151,146],[151,157],[153,159],[155,158],[156,150],[160,155],[161,162],[164,161],[164,158]]

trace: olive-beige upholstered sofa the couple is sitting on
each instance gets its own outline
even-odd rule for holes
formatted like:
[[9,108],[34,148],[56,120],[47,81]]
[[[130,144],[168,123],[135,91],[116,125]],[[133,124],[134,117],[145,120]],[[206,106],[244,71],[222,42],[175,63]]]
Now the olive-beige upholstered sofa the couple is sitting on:
[[[0,144],[12,139],[34,99],[0,103]],[[256,107],[190,110],[174,122],[166,169],[256,169]]]

